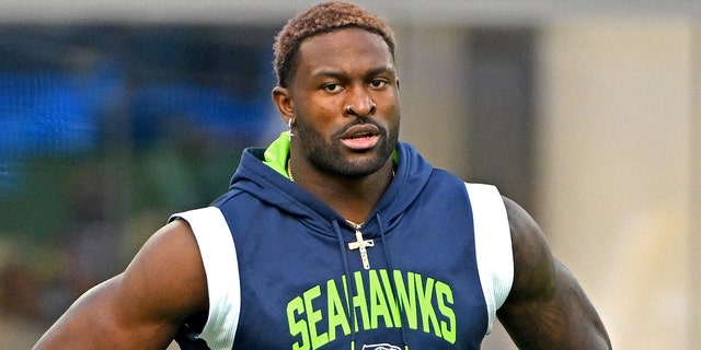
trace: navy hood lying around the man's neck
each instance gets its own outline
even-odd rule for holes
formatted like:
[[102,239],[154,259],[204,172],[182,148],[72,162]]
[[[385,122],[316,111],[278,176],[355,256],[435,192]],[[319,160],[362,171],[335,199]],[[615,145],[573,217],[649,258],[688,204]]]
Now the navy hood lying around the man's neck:
[[[280,137],[275,142],[283,142],[281,140],[286,139],[287,137]],[[289,152],[289,144],[284,144],[281,149],[284,152]],[[230,188],[248,192],[269,206],[279,208],[319,234],[334,236],[333,222],[346,224],[345,219],[306,189],[290,182],[279,166],[269,164],[266,155],[269,158],[271,152],[266,153],[263,148],[245,149],[239,168],[231,179]],[[380,225],[383,231],[390,233],[401,220],[405,209],[414,202],[426,186],[433,172],[433,166],[407,143],[398,142],[394,159],[397,162],[394,178],[366,218],[365,230],[363,230],[366,233],[379,232]],[[285,161],[286,158],[283,162]]]

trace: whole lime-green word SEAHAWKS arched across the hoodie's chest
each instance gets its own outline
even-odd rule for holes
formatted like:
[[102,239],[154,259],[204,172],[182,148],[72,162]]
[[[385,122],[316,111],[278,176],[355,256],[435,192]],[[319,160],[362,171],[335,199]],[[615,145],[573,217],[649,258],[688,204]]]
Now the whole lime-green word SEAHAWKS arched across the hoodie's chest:
[[[405,273],[386,269],[356,271],[352,277],[354,291],[348,289],[349,277],[341,276],[340,281],[327,280],[325,289],[315,285],[292,299],[286,311],[295,341],[291,349],[321,349],[340,336],[350,335],[350,327],[356,331],[401,327],[404,317],[409,328],[422,327],[424,332],[455,345],[458,325],[450,285],[415,272]],[[325,305],[321,298],[325,298]]]

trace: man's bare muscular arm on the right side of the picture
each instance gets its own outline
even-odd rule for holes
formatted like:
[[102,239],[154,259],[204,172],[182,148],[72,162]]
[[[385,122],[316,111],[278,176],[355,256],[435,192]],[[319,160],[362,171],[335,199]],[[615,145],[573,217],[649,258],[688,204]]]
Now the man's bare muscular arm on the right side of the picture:
[[497,312],[519,349],[611,349],[596,310],[540,228],[505,199],[514,247],[514,285]]

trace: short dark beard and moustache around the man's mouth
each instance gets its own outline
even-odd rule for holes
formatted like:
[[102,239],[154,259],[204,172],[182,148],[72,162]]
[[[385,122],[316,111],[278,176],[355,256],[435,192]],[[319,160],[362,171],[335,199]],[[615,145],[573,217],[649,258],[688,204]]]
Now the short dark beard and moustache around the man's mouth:
[[[341,152],[344,148],[341,135],[347,128],[358,124],[375,125],[380,130],[378,143],[371,150],[355,152],[355,156],[346,158]],[[296,135],[299,137],[302,153],[319,171],[343,177],[359,178],[379,171],[392,156],[399,140],[399,118],[389,126],[389,129],[371,119],[357,119],[336,131],[330,139],[324,139],[319,131],[300,118],[297,122]]]

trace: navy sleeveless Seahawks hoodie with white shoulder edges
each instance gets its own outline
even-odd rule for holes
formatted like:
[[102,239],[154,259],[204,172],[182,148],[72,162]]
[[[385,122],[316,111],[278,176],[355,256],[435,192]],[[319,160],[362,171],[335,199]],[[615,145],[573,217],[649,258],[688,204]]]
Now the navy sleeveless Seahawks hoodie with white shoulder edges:
[[203,331],[181,347],[480,349],[514,276],[502,197],[406,143],[395,160],[359,230],[365,268],[356,230],[246,149],[226,195],[171,218],[191,224],[209,293]]

